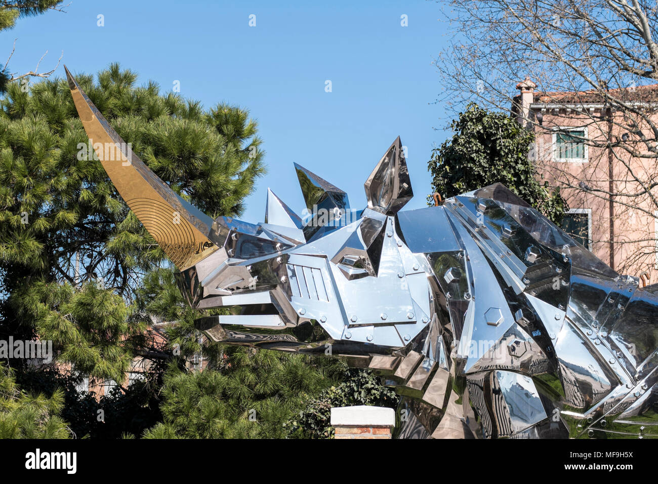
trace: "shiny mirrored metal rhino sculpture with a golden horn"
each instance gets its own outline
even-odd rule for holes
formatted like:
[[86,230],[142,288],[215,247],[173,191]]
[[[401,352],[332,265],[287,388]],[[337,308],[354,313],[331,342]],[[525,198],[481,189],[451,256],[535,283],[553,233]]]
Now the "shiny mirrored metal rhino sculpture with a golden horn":
[[[620,276],[501,184],[436,207],[399,138],[367,207],[295,165],[302,220],[214,221],[130,151],[66,70],[116,189],[180,272],[211,340],[346,358],[403,395],[398,437],[655,437],[658,286]],[[118,146],[108,159],[103,146]]]

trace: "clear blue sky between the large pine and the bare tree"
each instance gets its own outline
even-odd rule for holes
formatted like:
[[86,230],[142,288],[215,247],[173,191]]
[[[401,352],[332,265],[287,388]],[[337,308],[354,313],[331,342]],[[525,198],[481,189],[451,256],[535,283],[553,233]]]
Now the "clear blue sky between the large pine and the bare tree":
[[449,41],[439,9],[426,0],[73,0],[66,13],[20,19],[2,42],[9,55],[18,38],[11,72],[34,69],[46,50],[39,70],[50,70],[64,51],[74,73],[118,61],[140,84],[152,79],[166,92],[179,80],[181,94],[205,107],[228,101],[249,109],[268,175],[241,218],[257,222],[268,186],[301,212],[293,162],[345,190],[353,208],[365,206],[363,182],[398,135],[416,194],[407,208],[425,205],[426,164],[447,136],[435,130],[446,114],[434,104],[441,79],[432,59]]

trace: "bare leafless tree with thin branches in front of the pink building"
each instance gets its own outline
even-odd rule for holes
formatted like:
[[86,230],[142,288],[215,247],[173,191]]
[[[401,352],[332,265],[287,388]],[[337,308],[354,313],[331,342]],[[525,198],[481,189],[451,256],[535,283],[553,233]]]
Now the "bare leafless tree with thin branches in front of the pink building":
[[[452,40],[435,61],[444,89],[438,101],[445,102],[451,113],[476,101],[482,107],[509,111],[534,129],[538,145],[530,154],[536,157],[538,171],[550,173],[551,184],[563,188],[567,202],[597,198],[606,212],[609,207],[605,214],[609,233],[594,244],[622,254],[615,269],[634,275],[655,270],[655,0],[440,3]],[[524,111],[516,86],[526,76],[536,84],[536,92],[534,109]],[[580,126],[588,127],[574,140],[595,153],[587,169],[551,163],[548,152],[555,146],[542,146],[542,140],[563,132],[563,127],[542,119],[555,119],[553,115],[577,119]]]

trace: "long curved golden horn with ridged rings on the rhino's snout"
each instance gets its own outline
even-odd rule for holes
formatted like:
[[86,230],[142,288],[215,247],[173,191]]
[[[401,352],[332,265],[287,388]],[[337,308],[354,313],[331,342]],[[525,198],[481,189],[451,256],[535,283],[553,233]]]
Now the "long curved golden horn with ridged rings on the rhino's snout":
[[68,69],[66,78],[89,141],[114,187],[178,269],[215,251],[213,220],[180,198],[132,152]]

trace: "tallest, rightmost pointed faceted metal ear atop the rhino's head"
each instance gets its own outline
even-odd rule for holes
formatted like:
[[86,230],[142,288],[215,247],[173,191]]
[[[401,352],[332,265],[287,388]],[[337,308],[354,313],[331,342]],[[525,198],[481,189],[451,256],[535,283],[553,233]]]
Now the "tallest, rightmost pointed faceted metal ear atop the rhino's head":
[[393,215],[413,197],[407,161],[398,136],[364,184],[368,207]]

